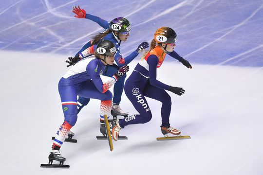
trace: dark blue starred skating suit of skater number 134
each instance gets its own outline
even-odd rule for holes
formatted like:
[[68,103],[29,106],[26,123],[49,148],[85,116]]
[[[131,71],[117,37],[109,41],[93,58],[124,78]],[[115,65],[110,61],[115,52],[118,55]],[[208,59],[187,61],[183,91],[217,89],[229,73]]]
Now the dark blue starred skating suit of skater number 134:
[[[101,27],[103,27],[104,29],[109,29],[109,22],[101,19],[99,17],[93,16],[93,15],[89,15],[86,14],[86,18],[93,20],[94,22],[96,22],[97,24],[99,24]],[[138,53],[136,51],[132,52],[130,55],[128,55],[127,57],[123,58],[121,53],[120,53],[120,43],[121,41],[115,36],[113,35],[113,33],[109,33],[108,35],[106,35],[103,40],[109,40],[112,41],[116,47],[116,55],[114,57],[115,63],[119,66],[122,67],[124,65],[129,64],[137,55]],[[76,54],[79,55],[80,57],[85,57],[89,54],[89,50],[88,48],[91,46],[92,41],[89,41],[87,44],[85,44],[82,49]],[[107,71],[103,72],[104,76],[109,76],[112,77],[114,73],[117,72],[117,68],[114,67],[109,67]],[[120,79],[116,82],[116,84],[114,85],[113,88],[113,92],[114,92],[114,97],[113,97],[113,103],[115,104],[119,104],[121,101],[121,95],[123,92],[123,88],[124,88],[124,81],[126,78],[126,74],[122,77],[120,77]],[[82,105],[87,105],[89,103],[90,99],[84,98],[82,96],[79,97],[78,101],[82,104]],[[83,106],[79,106],[79,111]]]

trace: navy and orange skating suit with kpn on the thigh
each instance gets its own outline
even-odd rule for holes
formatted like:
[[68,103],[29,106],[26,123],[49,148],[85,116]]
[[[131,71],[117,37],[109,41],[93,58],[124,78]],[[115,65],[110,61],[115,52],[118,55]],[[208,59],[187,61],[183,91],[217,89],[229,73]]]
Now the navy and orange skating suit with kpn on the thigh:
[[[178,60],[182,59],[174,51],[168,54]],[[131,76],[126,80],[124,87],[126,96],[139,114],[119,120],[122,128],[129,124],[147,123],[151,120],[150,106],[145,97],[162,102],[162,126],[169,126],[171,98],[165,91],[169,89],[169,86],[156,80],[156,69],[161,67],[165,56],[166,53],[164,53],[160,46],[156,46],[136,65]]]

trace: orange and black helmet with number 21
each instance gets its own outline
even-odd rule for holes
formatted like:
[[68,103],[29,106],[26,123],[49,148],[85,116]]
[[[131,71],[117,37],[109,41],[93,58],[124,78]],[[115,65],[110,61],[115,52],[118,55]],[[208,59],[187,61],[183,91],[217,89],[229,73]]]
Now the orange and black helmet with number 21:
[[161,27],[156,30],[154,34],[154,40],[156,43],[174,43],[177,41],[177,35],[169,27]]

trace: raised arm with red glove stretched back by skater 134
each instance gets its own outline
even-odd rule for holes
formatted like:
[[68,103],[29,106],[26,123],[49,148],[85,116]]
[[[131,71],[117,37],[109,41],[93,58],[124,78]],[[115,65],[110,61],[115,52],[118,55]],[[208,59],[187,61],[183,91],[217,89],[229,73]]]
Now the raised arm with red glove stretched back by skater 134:
[[109,28],[109,22],[99,18],[97,16],[94,15],[90,15],[90,14],[86,14],[86,11],[84,9],[81,9],[79,6],[78,7],[73,7],[72,8],[72,12],[75,13],[75,17],[76,18],[86,18],[86,19],[90,19],[94,22],[96,22],[98,25],[100,25],[101,27],[103,27],[104,29],[108,29]]

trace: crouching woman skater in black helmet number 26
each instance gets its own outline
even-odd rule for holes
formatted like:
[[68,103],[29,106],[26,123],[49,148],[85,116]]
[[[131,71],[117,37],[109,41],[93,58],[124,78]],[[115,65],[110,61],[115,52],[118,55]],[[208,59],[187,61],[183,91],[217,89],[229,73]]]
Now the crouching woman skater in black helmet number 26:
[[109,116],[112,109],[113,95],[108,89],[129,70],[127,65],[123,66],[110,80],[103,84],[100,73],[106,66],[113,65],[116,49],[113,42],[104,40],[98,43],[95,51],[94,55],[76,63],[58,83],[65,120],[56,132],[49,161],[64,162],[66,160],[60,155],[59,149],[68,136],[70,129],[76,123],[77,95],[101,100],[100,121],[101,124],[104,124],[103,116],[105,114]]

